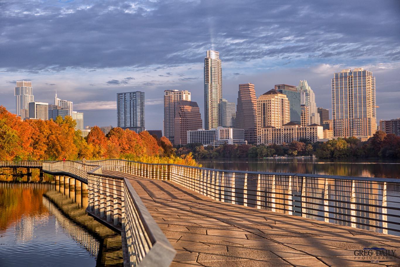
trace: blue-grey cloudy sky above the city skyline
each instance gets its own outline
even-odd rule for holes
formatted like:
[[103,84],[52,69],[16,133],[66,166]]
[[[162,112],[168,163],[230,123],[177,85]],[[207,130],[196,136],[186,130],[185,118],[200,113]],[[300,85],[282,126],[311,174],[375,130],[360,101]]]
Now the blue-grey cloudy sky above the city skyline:
[[178,89],[204,119],[210,49],[228,101],[238,84],[259,96],[305,79],[331,109],[334,72],[362,67],[376,77],[377,120],[400,117],[398,0],[0,0],[0,104],[15,112],[15,81],[32,80],[35,101],[53,104],[57,91],[85,126],[116,126],[116,93],[140,90],[156,130],[164,90]]

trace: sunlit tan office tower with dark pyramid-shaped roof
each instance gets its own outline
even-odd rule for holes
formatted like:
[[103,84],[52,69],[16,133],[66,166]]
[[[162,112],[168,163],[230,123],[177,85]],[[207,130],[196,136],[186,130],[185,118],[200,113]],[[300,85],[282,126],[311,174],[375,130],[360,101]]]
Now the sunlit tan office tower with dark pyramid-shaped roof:
[[257,131],[266,126],[280,128],[288,122],[290,106],[285,94],[272,89],[260,95],[257,99]]

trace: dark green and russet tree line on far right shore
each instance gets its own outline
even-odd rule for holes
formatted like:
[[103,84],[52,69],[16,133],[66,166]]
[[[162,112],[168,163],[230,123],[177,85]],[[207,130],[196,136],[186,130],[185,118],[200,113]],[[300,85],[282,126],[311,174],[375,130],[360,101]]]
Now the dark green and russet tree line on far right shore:
[[179,147],[180,155],[192,153],[195,159],[264,158],[288,155],[289,157],[312,156],[320,159],[385,158],[400,159],[400,137],[378,131],[368,141],[355,137],[332,139],[328,142],[311,143],[308,140],[293,141],[286,145],[222,145],[203,147],[192,143]]

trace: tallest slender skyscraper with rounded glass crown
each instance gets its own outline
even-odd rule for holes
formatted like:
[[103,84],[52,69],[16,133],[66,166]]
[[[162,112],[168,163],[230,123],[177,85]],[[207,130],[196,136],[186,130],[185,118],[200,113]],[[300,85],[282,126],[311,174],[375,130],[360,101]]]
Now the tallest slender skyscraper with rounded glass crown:
[[217,128],[221,123],[222,68],[220,53],[207,50],[204,58],[204,128]]

